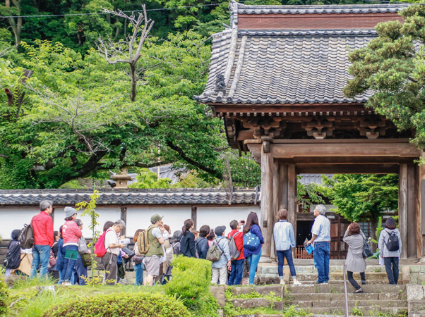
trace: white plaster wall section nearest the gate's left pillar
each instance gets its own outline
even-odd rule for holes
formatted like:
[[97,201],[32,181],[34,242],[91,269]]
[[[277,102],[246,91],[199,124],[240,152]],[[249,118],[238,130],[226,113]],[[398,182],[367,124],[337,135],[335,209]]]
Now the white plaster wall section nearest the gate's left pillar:
[[202,225],[209,225],[210,228],[215,228],[219,225],[226,226],[226,233],[232,231],[230,229],[230,221],[232,220],[246,220],[249,213],[254,211],[260,218],[260,206],[249,206],[249,207],[237,207],[237,206],[226,206],[226,207],[198,207],[198,217],[196,220],[196,230]]

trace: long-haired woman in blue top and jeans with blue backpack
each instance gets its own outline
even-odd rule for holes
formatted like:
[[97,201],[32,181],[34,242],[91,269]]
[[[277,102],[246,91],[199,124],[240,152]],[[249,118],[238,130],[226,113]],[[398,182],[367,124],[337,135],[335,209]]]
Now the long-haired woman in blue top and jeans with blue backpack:
[[263,247],[264,238],[261,234],[261,228],[258,225],[257,214],[252,211],[249,213],[248,218],[246,219],[244,235],[246,235],[248,232],[253,233],[260,239],[260,244],[258,244],[257,249],[249,250],[244,247],[245,259],[247,259],[249,263],[249,284],[254,285],[254,278],[256,278],[256,271],[258,262],[261,258],[261,247]]

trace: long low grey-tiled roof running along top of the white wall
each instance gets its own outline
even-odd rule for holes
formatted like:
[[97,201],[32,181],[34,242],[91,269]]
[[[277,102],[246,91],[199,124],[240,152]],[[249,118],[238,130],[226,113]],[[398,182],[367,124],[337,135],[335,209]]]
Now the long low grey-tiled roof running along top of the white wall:
[[[19,189],[0,190],[0,206],[35,205],[49,199],[54,204],[77,204],[90,200],[86,189]],[[254,204],[259,200],[255,189],[237,189],[232,204]],[[227,192],[220,189],[101,189],[102,204],[229,204]]]

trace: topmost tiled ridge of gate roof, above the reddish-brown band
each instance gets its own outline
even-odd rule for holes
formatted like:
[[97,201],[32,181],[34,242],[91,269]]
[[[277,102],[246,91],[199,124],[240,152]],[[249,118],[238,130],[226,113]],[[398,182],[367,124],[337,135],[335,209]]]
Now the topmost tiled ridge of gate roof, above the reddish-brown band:
[[238,5],[238,14],[349,14],[396,13],[411,4],[354,4],[330,6],[245,6]]

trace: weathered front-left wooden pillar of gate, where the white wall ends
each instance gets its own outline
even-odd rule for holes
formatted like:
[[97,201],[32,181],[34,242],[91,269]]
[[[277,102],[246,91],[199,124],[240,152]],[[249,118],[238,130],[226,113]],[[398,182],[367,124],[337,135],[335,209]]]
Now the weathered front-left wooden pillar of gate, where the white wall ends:
[[270,256],[271,240],[273,239],[273,154],[272,144],[263,139],[261,147],[261,219],[263,228],[263,256]]

